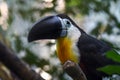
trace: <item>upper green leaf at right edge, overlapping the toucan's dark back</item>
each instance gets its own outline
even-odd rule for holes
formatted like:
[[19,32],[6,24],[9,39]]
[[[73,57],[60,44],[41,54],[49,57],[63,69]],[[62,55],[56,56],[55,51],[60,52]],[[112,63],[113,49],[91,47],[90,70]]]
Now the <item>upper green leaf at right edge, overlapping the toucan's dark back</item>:
[[106,56],[116,62],[120,62],[120,54],[115,50],[110,50],[106,53]]

